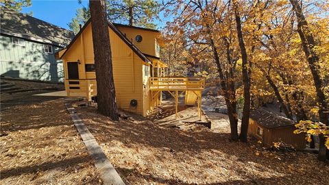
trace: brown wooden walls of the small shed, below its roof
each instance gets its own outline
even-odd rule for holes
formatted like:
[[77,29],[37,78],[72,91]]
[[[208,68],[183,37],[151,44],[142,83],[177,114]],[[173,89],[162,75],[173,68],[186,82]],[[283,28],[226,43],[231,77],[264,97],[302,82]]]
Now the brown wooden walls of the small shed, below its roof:
[[[263,128],[263,136],[258,136],[257,127]],[[253,119],[249,119],[248,133],[256,138],[262,140],[264,145],[272,146],[273,143],[282,141],[289,145],[293,145],[295,149],[304,149],[306,147],[306,140],[304,134],[293,134],[295,126],[279,127],[267,129],[258,125]]]

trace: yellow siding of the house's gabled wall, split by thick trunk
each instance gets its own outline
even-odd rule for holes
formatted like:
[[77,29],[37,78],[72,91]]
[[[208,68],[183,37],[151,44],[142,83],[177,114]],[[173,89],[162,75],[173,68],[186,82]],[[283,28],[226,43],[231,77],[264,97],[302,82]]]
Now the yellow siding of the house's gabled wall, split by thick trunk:
[[[118,108],[137,114],[143,114],[143,60],[139,58],[136,53],[128,47],[117,34],[115,34],[110,27],[110,42],[112,49],[112,64],[114,75],[114,86],[116,90]],[[91,30],[91,23],[87,25],[84,32],[77,38],[73,45],[63,56],[64,60],[64,75],[67,79],[66,62],[74,62],[79,60],[79,77],[80,79],[95,79],[95,72],[86,72],[85,64],[94,64],[93,53],[93,35]],[[66,91],[74,92],[68,93],[70,96],[86,97],[86,84],[80,84],[80,90],[70,90],[69,84],[65,83]],[[95,89],[96,90],[96,89]],[[137,100],[137,107],[130,106],[132,99]]]

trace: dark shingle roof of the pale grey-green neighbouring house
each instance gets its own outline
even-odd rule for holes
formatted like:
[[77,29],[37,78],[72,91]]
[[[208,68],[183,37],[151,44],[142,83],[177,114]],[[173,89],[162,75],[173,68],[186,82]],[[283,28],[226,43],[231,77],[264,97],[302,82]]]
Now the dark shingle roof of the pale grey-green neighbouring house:
[[74,33],[1,6],[1,34],[44,42],[64,47],[74,37]]

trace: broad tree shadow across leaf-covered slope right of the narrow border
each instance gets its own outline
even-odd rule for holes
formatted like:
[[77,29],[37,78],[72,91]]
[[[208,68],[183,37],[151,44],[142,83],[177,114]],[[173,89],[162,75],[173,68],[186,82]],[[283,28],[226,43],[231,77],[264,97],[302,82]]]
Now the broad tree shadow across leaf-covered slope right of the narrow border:
[[[245,181],[232,181],[228,184],[249,184],[253,183],[256,178],[253,172],[249,172],[249,164],[257,167],[258,173],[266,171],[268,176],[271,173],[276,175],[285,175],[285,178],[289,180],[294,173],[298,173],[297,170],[290,171],[282,167],[288,167],[289,165],[300,165],[300,162],[306,167],[306,171],[311,170],[313,165],[317,165],[319,168],[323,168],[326,164],[317,162],[316,157],[310,157],[306,153],[295,152],[291,153],[272,153],[273,156],[256,156],[255,152],[259,150],[265,151],[254,138],[249,138],[249,143],[230,142],[230,133],[216,133],[211,130],[201,130],[195,132],[184,132],[175,128],[160,127],[150,121],[140,121],[138,123],[131,121],[120,121],[113,123],[106,116],[97,114],[97,111],[92,108],[84,108],[81,110],[81,117],[84,119],[86,126],[90,132],[93,133],[99,143],[111,143],[117,141],[123,143],[125,147],[133,147],[138,145],[138,148],[144,149],[156,149],[154,155],[158,158],[158,162],[167,162],[167,158],[162,158],[162,152],[173,153],[173,158],[170,158],[173,163],[180,163],[180,157],[184,156],[184,161],[194,161],[196,159],[202,160],[203,156],[214,155],[219,156],[219,160],[228,160],[223,162],[223,167],[233,168],[235,173],[239,174],[239,177],[245,179]],[[259,145],[258,147],[256,145]],[[158,156],[157,156],[158,155]],[[177,156],[177,158],[175,158]],[[223,156],[223,157],[221,157]],[[280,156],[280,160],[274,158]],[[308,158],[313,165],[307,166],[303,158]],[[300,161],[300,162],[299,162]],[[227,165],[233,165],[227,166]],[[283,166],[282,166],[283,165]],[[217,167],[216,167],[217,168]],[[219,170],[221,167],[219,167]],[[187,170],[187,169],[186,169]],[[287,173],[287,174],[286,174]],[[252,176],[252,177],[251,177]],[[273,178],[276,176],[274,175]],[[151,178],[151,177],[150,177]],[[257,180],[257,179],[256,179]],[[266,179],[267,182],[270,179]],[[177,184],[177,182],[166,182],[165,180],[158,180],[168,184]],[[220,184],[220,183],[219,183]],[[226,184],[226,183],[223,183]],[[273,184],[276,184],[273,179]]]

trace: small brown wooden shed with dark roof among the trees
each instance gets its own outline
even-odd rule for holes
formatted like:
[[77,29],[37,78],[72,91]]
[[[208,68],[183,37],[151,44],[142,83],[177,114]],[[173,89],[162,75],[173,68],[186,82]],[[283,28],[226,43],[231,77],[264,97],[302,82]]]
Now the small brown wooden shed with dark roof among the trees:
[[306,140],[304,134],[293,134],[295,121],[278,116],[265,110],[250,112],[248,133],[260,139],[264,145],[282,141],[295,149],[304,149]]

